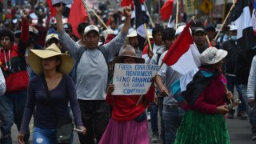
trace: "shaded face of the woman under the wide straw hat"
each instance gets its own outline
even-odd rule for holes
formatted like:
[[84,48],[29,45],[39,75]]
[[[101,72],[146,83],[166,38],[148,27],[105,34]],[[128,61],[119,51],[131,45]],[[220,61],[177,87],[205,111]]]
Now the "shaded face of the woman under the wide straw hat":
[[42,58],[43,70],[56,70],[57,66],[61,64],[61,61],[56,57]]

